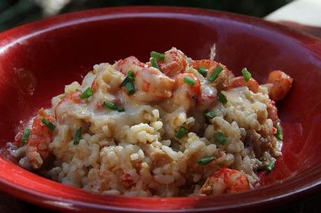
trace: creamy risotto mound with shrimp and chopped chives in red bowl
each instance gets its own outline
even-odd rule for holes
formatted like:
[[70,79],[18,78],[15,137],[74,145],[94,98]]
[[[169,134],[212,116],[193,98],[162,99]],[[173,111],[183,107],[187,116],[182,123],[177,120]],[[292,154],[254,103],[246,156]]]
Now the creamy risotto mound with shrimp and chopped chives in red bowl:
[[20,166],[73,187],[125,196],[207,196],[259,186],[281,156],[275,101],[292,78],[258,84],[172,48],[94,65],[8,143]]

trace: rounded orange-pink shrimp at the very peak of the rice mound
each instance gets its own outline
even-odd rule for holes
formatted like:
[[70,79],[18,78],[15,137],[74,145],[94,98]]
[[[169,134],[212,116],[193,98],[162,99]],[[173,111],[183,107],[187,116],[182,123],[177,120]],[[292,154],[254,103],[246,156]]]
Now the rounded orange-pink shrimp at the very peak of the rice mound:
[[158,60],[160,71],[168,77],[174,77],[178,73],[184,72],[186,68],[186,56],[183,52],[175,47],[165,52],[163,61]]

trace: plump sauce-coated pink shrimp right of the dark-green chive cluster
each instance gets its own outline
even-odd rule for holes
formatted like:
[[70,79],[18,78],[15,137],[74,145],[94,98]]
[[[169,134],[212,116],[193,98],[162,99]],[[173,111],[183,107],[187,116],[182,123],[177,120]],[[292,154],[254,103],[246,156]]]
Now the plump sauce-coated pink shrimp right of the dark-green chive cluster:
[[[138,101],[157,102],[172,97],[174,85],[175,81],[160,70],[153,67],[143,68],[135,72],[136,91],[129,97]],[[122,90],[126,94],[124,87]]]

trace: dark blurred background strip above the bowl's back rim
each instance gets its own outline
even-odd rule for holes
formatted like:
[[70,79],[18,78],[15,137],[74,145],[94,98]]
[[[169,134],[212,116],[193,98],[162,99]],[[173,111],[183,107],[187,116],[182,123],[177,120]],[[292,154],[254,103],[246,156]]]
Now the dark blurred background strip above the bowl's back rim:
[[43,17],[90,8],[133,5],[186,6],[264,17],[291,1],[293,0],[0,0],[0,31]]

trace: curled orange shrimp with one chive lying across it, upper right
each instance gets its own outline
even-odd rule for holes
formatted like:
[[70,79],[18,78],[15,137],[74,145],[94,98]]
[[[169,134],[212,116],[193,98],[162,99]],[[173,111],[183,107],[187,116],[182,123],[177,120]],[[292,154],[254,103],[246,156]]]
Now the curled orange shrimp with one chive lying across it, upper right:
[[[207,77],[211,76],[211,74],[214,72],[215,68],[218,65],[221,64],[216,61],[211,61],[207,59],[195,60],[191,61],[190,63],[190,66],[196,70],[200,67],[208,69],[209,72],[207,72]],[[217,88],[219,91],[227,90],[230,79],[234,77],[234,74],[230,70],[228,70],[224,65],[221,65],[221,67],[223,68],[223,70],[220,74],[218,74],[218,77],[214,80],[214,87]]]

